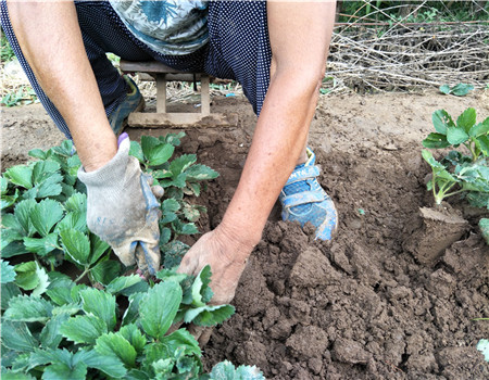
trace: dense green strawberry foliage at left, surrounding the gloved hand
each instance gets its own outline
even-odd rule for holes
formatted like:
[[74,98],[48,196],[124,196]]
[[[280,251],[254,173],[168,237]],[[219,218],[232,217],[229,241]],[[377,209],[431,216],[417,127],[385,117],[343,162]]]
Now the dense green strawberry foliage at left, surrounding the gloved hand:
[[[0,177],[1,352],[5,379],[263,379],[254,367],[217,365],[203,373],[201,350],[176,322],[214,326],[234,314],[209,305],[211,269],[176,274],[205,208],[190,203],[217,173],[196,155],[170,161],[184,134],[143,137],[135,155],[165,189],[160,246],[164,267],[151,283],[121,277],[110,246],[87,229],[86,189],[72,142],[29,152],[38,161]],[[16,265],[9,261],[15,259]],[[13,263],[13,262],[12,262]],[[60,268],[78,273],[68,277]],[[92,284],[93,288],[89,287]]]

